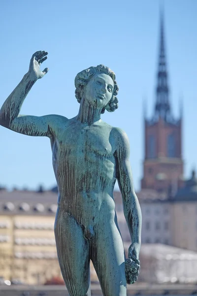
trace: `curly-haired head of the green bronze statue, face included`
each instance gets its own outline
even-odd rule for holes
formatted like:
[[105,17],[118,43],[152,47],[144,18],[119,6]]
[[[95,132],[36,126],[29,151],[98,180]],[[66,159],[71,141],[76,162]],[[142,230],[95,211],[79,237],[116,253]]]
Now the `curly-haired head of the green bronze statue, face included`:
[[90,67],[81,71],[75,77],[75,97],[80,103],[85,96],[90,104],[109,112],[118,108],[118,85],[116,76],[111,69],[103,65]]

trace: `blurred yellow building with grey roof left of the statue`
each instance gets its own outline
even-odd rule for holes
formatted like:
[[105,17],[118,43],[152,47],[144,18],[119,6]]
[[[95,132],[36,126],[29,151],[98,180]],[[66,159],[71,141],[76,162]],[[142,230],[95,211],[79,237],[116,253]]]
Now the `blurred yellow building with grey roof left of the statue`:
[[27,284],[61,276],[54,237],[57,194],[0,190],[0,276]]

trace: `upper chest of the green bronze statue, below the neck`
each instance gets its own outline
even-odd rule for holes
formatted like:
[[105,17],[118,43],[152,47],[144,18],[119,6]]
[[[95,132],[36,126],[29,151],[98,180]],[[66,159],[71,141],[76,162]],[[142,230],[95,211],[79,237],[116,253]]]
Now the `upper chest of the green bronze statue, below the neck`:
[[100,127],[68,127],[62,131],[58,137],[57,145],[61,151],[66,154],[72,154],[76,157],[83,154],[99,154],[101,156],[113,153],[109,142],[110,132]]

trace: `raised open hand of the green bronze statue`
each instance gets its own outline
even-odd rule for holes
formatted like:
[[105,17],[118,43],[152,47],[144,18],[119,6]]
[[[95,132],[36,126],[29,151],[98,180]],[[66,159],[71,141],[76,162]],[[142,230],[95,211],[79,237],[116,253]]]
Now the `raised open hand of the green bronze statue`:
[[30,61],[30,68],[29,68],[29,74],[33,79],[39,79],[42,78],[47,72],[48,68],[45,68],[43,71],[40,70],[40,65],[47,59],[48,52],[46,51],[36,51],[32,59]]

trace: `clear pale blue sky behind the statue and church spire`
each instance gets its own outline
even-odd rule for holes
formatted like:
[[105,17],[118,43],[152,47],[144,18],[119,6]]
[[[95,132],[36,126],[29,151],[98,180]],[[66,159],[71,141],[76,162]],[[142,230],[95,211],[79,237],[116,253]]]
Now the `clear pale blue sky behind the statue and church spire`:
[[[197,166],[197,1],[56,0],[0,1],[0,105],[27,73],[32,54],[48,51],[48,74],[38,80],[22,114],[75,116],[74,77],[104,64],[116,74],[119,109],[102,119],[126,131],[131,145],[135,189],[143,161],[142,101],[152,114],[159,48],[159,8],[164,27],[170,101],[178,115],[184,105],[185,177]],[[0,126],[0,185],[8,188],[55,185],[48,138],[28,137]]]

